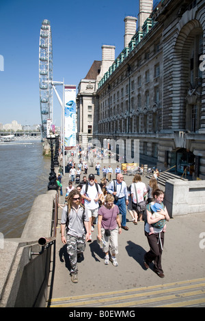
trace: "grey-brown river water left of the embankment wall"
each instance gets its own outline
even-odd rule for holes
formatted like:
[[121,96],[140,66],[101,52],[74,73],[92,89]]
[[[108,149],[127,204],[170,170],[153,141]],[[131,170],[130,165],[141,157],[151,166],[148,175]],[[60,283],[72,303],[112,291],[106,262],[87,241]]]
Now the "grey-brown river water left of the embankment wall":
[[34,199],[47,191],[51,158],[42,156],[42,143],[0,144],[0,233],[19,238]]

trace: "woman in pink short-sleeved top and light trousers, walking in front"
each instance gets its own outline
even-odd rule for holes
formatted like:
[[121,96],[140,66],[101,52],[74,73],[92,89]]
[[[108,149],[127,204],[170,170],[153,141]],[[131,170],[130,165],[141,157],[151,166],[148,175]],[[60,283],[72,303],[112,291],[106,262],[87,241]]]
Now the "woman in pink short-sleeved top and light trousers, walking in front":
[[109,264],[110,247],[111,262],[113,263],[113,266],[118,266],[115,255],[118,254],[118,233],[122,233],[119,213],[120,210],[118,206],[114,204],[113,195],[108,194],[105,200],[105,205],[102,205],[98,211],[97,237],[98,240],[102,240],[102,251],[105,253],[105,265]]

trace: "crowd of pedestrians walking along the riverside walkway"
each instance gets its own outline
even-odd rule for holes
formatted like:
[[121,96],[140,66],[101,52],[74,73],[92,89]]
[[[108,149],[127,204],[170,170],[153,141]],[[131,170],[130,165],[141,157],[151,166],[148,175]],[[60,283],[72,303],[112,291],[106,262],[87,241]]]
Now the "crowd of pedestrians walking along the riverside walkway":
[[[87,163],[79,162],[77,169],[84,176],[77,186],[73,186],[76,165],[70,163],[69,166],[70,180],[61,215],[61,240],[67,244],[72,282],[78,282],[77,262],[85,250],[85,242],[92,242],[94,228],[97,228],[97,240],[105,253],[104,264],[111,261],[113,266],[118,266],[118,235],[122,229],[126,232],[129,229],[126,226],[127,210],[135,225],[144,221],[144,233],[150,246],[143,258],[145,268],[153,262],[154,272],[164,277],[161,255],[169,214],[163,205],[164,193],[159,189],[157,178],[153,176],[146,186],[137,173],[131,186],[127,186],[119,165],[114,170],[110,165],[101,169],[97,163],[96,173],[86,176]],[[98,182],[96,177],[100,176],[100,171],[102,180]]]

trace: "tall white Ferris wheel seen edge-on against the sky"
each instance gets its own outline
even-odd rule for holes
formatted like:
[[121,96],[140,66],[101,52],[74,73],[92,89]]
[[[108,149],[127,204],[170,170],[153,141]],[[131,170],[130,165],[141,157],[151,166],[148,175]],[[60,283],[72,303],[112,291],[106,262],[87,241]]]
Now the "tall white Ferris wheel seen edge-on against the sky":
[[43,20],[39,41],[39,89],[42,137],[47,135],[48,120],[53,123],[53,49],[51,23]]

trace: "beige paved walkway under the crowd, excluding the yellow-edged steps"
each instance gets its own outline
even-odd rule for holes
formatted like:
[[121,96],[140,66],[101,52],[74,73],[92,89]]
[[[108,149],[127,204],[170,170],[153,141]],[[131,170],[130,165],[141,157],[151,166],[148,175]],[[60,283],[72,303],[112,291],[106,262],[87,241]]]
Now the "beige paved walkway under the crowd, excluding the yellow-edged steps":
[[[94,167],[88,169],[87,176],[89,173],[96,174]],[[68,180],[69,174],[66,173],[62,179],[64,195]],[[133,176],[124,176],[124,180],[129,185]],[[145,176],[142,176],[142,181],[146,185],[148,184],[148,179]],[[60,202],[61,204],[64,202],[64,196],[60,197]],[[59,300],[59,298],[70,298],[70,296],[72,298],[75,296],[80,298],[82,295],[90,297],[96,296],[96,294],[101,296],[104,292],[159,287],[165,286],[167,283],[175,284],[205,277],[205,249],[200,246],[203,244],[200,234],[205,233],[205,213],[176,217],[167,223],[162,257],[164,279],[160,279],[153,272],[152,266],[148,270],[143,267],[143,255],[149,250],[146,236],[143,233],[143,223],[139,222],[134,225],[131,215],[127,212],[129,230],[122,230],[122,234],[118,237],[118,267],[113,266],[111,262],[105,266],[104,253],[96,242],[97,227],[95,226],[94,232],[92,232],[93,241],[87,242],[83,260],[79,262],[79,283],[72,283],[70,279],[66,246],[61,243],[61,234],[59,233],[60,219],[61,210],[59,210],[59,226],[57,227],[55,275],[51,281],[52,295],[50,298],[52,298],[52,302],[61,301],[62,299]],[[200,281],[200,283],[202,282]],[[204,296],[205,294],[202,295],[205,301]]]

